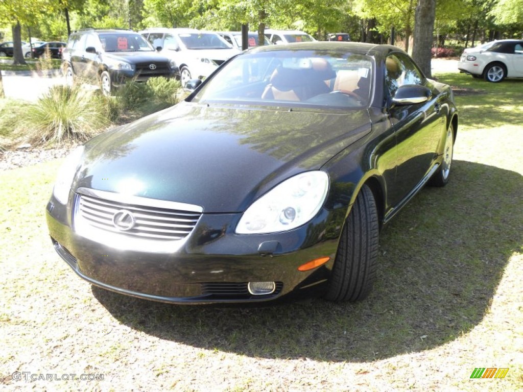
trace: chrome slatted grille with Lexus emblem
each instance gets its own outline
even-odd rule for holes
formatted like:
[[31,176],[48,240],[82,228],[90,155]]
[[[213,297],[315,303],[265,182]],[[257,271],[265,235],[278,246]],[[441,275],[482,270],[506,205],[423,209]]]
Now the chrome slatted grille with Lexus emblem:
[[[186,238],[203,212],[197,205],[86,188],[78,189],[77,193],[76,232],[125,249],[149,249],[153,241],[157,251],[172,251],[174,248],[169,244],[180,243]],[[119,224],[121,222],[116,217],[122,213],[130,222]],[[158,247],[159,244],[165,244],[165,247]]]

